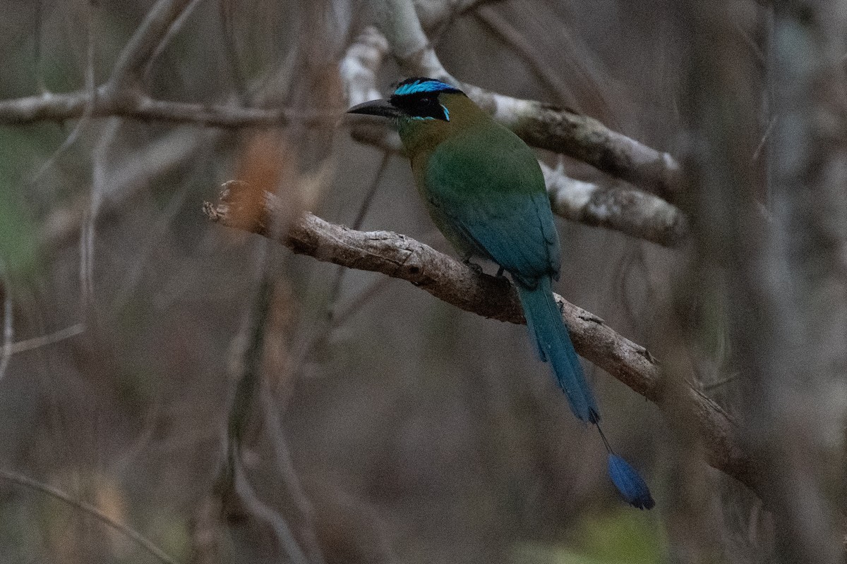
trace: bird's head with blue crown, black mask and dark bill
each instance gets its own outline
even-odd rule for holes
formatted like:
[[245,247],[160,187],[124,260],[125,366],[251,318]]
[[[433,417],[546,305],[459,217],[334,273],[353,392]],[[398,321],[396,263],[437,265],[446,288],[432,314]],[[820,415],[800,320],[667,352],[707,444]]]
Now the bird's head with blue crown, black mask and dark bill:
[[465,96],[462,90],[440,80],[417,76],[399,83],[388,100],[366,101],[347,112],[393,118],[401,126],[433,120],[449,123],[450,95]]

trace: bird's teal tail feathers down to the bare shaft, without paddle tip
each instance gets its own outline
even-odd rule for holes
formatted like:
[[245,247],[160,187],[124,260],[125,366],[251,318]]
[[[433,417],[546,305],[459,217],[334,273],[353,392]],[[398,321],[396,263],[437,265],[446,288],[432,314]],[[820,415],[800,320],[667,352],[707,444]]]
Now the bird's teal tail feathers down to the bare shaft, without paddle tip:
[[582,421],[597,423],[600,420],[597,402],[585,381],[579,357],[562,321],[562,312],[553,298],[550,277],[540,278],[534,288],[525,287],[520,282],[516,286],[529,335],[534,338],[541,360],[550,361],[556,381],[567,394],[571,411]]

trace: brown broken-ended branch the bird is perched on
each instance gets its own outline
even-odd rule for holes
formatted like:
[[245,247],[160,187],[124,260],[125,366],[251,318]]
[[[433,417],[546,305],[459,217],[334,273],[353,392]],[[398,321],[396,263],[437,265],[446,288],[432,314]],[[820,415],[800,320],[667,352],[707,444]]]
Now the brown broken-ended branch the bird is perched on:
[[[268,192],[257,196],[256,190],[240,182],[225,183],[219,203],[207,202],[204,211],[215,222],[274,238],[295,253],[412,282],[448,304],[490,319],[524,322],[518,296],[506,279],[479,274],[406,235],[355,231],[309,213],[287,232],[274,235],[279,231],[274,229],[274,218],[286,215],[281,201]],[[667,382],[647,349],[619,335],[596,315],[560,296],[556,299],[580,355],[662,410],[679,409],[665,402]],[[737,425],[693,386],[683,387],[683,397],[699,424],[707,462],[756,491],[760,472],[738,445]],[[678,392],[669,396],[678,401]]]

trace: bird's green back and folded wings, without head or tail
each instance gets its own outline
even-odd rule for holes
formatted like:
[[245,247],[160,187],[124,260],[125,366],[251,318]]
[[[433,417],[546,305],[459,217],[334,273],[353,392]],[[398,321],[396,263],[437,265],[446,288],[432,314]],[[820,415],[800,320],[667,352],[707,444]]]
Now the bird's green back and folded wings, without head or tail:
[[429,215],[460,255],[513,275],[556,276],[559,246],[534,153],[499,124],[479,123],[412,155]]

